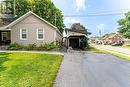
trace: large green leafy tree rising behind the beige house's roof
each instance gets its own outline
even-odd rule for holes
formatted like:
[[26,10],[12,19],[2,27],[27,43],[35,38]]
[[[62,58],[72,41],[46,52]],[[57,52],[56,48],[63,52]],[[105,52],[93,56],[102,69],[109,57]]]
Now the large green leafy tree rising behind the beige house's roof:
[[62,12],[56,8],[51,0],[15,0],[15,3],[16,18],[19,18],[28,11],[33,11],[46,21],[55,25],[60,32],[63,31]]

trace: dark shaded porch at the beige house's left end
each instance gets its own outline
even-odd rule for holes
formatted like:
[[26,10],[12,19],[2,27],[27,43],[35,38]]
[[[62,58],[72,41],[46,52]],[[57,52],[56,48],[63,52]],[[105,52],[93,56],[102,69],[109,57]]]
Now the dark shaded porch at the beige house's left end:
[[0,45],[8,45],[11,43],[10,30],[0,30]]

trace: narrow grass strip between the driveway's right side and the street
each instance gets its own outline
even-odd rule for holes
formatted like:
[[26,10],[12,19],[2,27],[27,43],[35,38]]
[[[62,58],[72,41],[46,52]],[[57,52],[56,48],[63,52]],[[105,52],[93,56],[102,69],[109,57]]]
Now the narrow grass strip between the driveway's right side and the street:
[[121,53],[117,53],[117,52],[113,52],[113,51],[97,49],[97,48],[94,48],[94,47],[91,47],[91,49],[89,51],[95,52],[95,53],[112,54],[112,55],[117,56],[119,58],[122,58],[122,59],[125,59],[125,60],[130,60],[130,56],[124,56]]

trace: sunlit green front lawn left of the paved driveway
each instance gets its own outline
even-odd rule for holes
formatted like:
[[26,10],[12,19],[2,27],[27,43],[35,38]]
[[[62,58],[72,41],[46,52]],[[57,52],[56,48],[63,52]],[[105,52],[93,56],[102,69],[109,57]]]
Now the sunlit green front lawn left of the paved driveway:
[[52,87],[63,55],[0,53],[0,87]]

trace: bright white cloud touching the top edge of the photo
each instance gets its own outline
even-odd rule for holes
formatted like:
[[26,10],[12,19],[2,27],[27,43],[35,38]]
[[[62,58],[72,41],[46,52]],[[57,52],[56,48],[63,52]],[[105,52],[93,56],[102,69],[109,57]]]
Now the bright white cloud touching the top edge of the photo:
[[85,9],[86,0],[74,0],[74,1],[75,1],[75,8],[77,11]]

